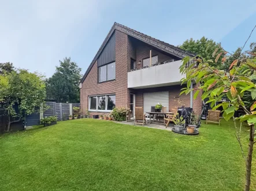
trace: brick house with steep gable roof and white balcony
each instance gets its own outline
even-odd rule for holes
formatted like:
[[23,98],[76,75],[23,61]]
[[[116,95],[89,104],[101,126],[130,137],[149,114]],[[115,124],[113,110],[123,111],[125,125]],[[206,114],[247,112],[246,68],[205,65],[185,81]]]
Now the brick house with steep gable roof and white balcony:
[[81,111],[105,114],[127,106],[133,113],[142,106],[146,112],[159,102],[168,110],[187,106],[200,114],[195,84],[193,92],[180,96],[184,75],[179,66],[185,56],[195,55],[115,22],[81,79]]

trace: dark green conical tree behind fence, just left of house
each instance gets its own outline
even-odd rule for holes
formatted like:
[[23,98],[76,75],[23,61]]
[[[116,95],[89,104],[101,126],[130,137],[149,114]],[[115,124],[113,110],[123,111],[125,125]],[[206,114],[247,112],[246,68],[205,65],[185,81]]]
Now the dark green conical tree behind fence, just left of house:
[[55,73],[46,81],[47,98],[57,102],[79,102],[80,71],[71,58],[60,60],[60,66],[56,66]]

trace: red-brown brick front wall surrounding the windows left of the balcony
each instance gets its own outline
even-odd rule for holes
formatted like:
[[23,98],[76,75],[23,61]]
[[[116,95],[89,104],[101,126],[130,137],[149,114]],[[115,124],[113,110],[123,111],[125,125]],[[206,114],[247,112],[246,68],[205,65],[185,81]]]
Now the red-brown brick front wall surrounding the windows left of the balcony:
[[[81,110],[84,113],[88,109],[88,96],[97,94],[116,94],[116,106],[129,104],[129,90],[127,89],[128,60],[128,36],[116,30],[116,80],[98,83],[97,62],[84,80],[81,88]],[[127,105],[129,106],[129,105]],[[102,114],[91,112],[92,114]]]

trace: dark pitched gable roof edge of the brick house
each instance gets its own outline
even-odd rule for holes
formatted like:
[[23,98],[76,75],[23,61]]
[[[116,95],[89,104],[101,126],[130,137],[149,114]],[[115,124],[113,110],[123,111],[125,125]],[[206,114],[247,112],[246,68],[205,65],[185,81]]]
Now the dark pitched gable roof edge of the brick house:
[[87,75],[89,74],[89,72],[91,71],[91,68],[93,66],[93,64],[96,62],[96,60],[98,59],[99,55],[101,54],[103,48],[105,47],[105,45],[107,44],[107,41],[110,39],[110,37],[112,36],[114,30],[119,30],[129,36],[134,37],[135,39],[138,39],[140,41],[143,41],[144,43],[147,43],[155,48],[161,49],[164,52],[167,52],[169,54],[172,54],[174,56],[177,56],[180,59],[183,59],[185,56],[195,56],[194,53],[191,53],[189,51],[185,51],[184,49],[181,49],[179,47],[175,47],[174,45],[165,43],[164,41],[155,39],[151,36],[147,36],[144,35],[143,33],[140,33],[136,30],[133,30],[131,28],[128,28],[127,26],[118,24],[117,22],[114,22],[114,25],[112,26],[112,28],[110,29],[109,33],[106,36],[106,39],[103,41],[101,47],[99,48],[97,54],[94,56],[94,59],[92,60],[90,66],[87,68],[86,73],[83,75],[83,78],[81,78],[81,83],[84,82],[84,80],[86,79]]

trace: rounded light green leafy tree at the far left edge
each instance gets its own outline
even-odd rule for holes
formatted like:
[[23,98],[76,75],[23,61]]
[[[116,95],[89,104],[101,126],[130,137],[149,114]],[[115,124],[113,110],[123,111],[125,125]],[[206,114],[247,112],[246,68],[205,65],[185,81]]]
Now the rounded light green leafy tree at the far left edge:
[[38,73],[20,69],[0,75],[0,104],[8,114],[7,131],[10,131],[11,123],[34,113],[45,97],[43,76]]

